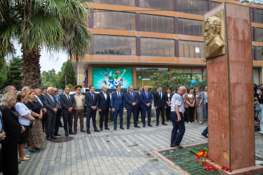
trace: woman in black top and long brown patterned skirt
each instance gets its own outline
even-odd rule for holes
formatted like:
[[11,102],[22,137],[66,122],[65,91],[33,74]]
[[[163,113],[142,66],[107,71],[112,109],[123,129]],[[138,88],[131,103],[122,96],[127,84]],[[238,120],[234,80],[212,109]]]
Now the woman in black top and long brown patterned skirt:
[[34,125],[32,128],[29,128],[29,141],[27,146],[29,147],[29,152],[36,152],[39,150],[39,147],[45,145],[45,137],[42,130],[42,106],[35,99],[35,92],[29,90],[27,92],[27,108],[31,111],[31,116],[35,118]]

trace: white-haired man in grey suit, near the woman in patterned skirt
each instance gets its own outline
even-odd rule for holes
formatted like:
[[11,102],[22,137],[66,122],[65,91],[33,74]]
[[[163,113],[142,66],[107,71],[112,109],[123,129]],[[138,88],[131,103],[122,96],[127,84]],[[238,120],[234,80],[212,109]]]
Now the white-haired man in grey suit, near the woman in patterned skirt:
[[55,100],[53,87],[48,87],[48,93],[43,97],[43,104],[46,106],[46,139],[58,139],[55,137],[55,114],[58,111],[58,102]]

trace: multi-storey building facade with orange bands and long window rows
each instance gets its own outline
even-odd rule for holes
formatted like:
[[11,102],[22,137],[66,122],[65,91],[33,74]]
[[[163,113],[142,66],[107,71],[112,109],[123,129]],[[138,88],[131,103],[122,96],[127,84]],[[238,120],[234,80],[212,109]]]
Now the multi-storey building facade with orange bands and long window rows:
[[[205,71],[203,14],[234,0],[93,0],[88,30],[93,46],[76,64],[78,84],[114,88],[151,85],[162,71],[182,71],[191,78]],[[263,6],[250,0],[254,83],[262,83]],[[244,70],[245,71],[245,70]]]

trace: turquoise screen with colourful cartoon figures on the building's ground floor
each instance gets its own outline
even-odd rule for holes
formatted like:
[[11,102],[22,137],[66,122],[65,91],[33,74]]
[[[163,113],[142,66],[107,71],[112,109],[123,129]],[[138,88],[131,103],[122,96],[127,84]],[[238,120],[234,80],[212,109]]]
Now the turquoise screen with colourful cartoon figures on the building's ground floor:
[[133,85],[133,69],[131,67],[93,67],[93,85],[95,89],[102,89],[107,85],[108,89],[128,88]]

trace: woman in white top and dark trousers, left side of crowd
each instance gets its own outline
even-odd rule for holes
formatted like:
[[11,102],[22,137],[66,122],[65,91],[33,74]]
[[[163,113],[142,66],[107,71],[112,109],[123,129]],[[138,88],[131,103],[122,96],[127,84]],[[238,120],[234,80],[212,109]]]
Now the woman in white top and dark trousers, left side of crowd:
[[17,96],[17,103],[15,104],[15,110],[18,112],[18,120],[23,127],[25,127],[25,132],[20,135],[20,141],[18,142],[18,153],[19,158],[18,160],[24,161],[29,160],[29,155],[24,153],[24,144],[27,144],[28,137],[29,137],[29,125],[30,122],[34,120],[31,116],[31,111],[25,106],[24,102],[26,101],[27,97],[25,92],[21,92]]

